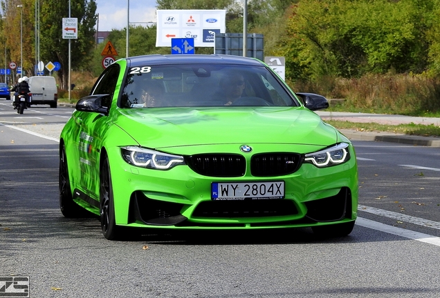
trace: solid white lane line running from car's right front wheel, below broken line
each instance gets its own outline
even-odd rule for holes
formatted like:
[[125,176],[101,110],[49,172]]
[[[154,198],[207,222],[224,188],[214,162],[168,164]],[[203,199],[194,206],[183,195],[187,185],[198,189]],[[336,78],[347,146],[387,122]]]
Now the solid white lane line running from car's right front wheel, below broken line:
[[405,237],[416,241],[425,242],[427,244],[433,244],[434,246],[440,246],[439,237],[423,234],[421,232],[414,232],[412,230],[405,230],[403,228],[397,228],[394,226],[388,226],[386,224],[382,224],[369,219],[364,219],[362,217],[358,217],[358,219],[356,219],[356,225],[363,226],[365,228],[371,228],[373,230],[378,230],[381,232],[387,232],[388,234]]

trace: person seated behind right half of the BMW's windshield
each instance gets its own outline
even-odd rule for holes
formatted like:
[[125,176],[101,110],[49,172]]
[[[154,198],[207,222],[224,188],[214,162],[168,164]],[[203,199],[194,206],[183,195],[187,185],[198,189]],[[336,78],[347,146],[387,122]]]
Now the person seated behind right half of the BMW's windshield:
[[227,72],[220,79],[221,94],[217,92],[217,99],[220,99],[225,106],[230,106],[234,101],[243,95],[245,88],[244,77],[239,72]]

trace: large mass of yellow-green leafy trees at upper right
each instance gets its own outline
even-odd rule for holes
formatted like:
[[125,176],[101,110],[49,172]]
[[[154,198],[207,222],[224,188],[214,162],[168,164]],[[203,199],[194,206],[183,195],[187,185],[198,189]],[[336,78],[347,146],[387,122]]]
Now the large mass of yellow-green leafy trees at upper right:
[[290,10],[279,40],[280,54],[290,58],[286,77],[423,72],[433,1],[301,0]]

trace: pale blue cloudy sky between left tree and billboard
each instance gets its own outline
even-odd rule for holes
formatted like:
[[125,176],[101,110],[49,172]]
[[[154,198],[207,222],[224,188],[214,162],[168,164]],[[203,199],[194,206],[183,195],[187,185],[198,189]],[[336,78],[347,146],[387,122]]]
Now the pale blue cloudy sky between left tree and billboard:
[[98,30],[121,30],[127,27],[127,6],[131,26],[145,25],[138,22],[156,22],[155,0],[95,0],[99,14]]

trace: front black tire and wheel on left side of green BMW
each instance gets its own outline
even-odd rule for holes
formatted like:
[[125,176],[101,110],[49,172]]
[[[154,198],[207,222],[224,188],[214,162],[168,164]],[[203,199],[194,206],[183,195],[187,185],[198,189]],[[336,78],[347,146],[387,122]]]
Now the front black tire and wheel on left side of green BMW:
[[109,159],[104,158],[100,166],[100,219],[102,235],[108,240],[120,239],[120,228],[116,226],[115,206],[113,202],[113,188]]

